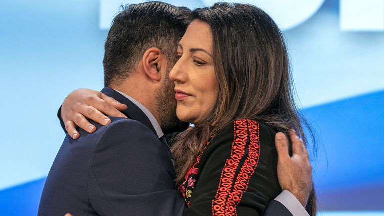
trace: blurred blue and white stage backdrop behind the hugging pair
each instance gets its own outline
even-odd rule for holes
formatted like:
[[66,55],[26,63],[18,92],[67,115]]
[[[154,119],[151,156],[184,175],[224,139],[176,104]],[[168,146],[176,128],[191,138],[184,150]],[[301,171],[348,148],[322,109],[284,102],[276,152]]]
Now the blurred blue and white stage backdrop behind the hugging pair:
[[[35,215],[76,88],[102,89],[122,0],[0,0],[0,215]],[[142,1],[141,1],[142,2]],[[209,0],[169,0],[190,8]],[[384,215],[384,0],[251,0],[287,38],[298,97],[318,132],[322,215]]]

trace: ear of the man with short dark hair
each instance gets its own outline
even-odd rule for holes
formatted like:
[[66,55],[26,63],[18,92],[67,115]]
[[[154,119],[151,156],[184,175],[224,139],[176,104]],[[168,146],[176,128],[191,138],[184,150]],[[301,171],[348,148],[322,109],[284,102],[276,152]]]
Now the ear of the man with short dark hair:
[[153,81],[161,80],[161,70],[167,67],[165,55],[160,49],[152,47],[142,56],[142,65],[146,75]]

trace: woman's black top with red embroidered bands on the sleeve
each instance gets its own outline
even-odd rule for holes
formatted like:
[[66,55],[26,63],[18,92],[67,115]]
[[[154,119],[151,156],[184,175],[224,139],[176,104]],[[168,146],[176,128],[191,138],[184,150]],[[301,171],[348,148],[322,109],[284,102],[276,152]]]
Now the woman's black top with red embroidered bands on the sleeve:
[[207,140],[179,186],[185,215],[262,215],[281,193],[275,133],[241,119]]

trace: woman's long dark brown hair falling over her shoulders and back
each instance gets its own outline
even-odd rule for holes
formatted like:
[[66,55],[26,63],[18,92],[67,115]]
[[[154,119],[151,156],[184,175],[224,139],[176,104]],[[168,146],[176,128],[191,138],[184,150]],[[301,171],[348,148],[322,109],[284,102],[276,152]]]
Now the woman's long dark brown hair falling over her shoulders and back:
[[[183,182],[206,140],[235,119],[256,120],[282,132],[293,128],[306,143],[303,125],[312,130],[296,108],[286,45],[272,18],[252,5],[216,3],[195,9],[191,19],[211,27],[219,96],[203,123],[175,139],[176,183]],[[316,215],[314,190],[306,208]]]

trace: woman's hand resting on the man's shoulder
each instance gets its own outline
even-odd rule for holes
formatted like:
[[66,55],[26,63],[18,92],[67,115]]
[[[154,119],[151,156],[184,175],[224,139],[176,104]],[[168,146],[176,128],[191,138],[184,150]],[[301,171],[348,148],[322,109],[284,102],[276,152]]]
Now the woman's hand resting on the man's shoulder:
[[125,104],[106,96],[105,94],[90,90],[77,89],[71,92],[62,103],[61,118],[65,124],[68,134],[77,139],[80,133],[76,126],[92,133],[96,131],[96,126],[91,124],[86,118],[94,120],[101,125],[107,125],[111,121],[106,116],[125,117],[120,111],[127,108]]

